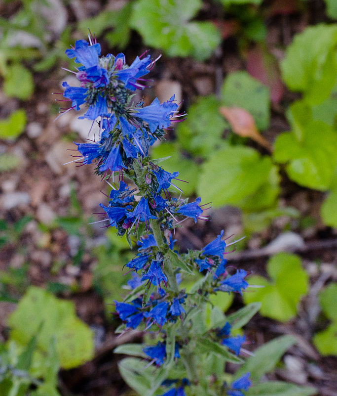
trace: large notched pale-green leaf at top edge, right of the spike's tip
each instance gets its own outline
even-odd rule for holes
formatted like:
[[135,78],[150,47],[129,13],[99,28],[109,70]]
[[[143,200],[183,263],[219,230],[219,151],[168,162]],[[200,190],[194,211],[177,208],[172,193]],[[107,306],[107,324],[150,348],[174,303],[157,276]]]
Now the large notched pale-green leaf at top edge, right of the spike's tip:
[[139,0],[133,7],[131,26],[145,44],[162,48],[169,56],[207,59],[220,44],[219,31],[211,22],[189,22],[201,0]]

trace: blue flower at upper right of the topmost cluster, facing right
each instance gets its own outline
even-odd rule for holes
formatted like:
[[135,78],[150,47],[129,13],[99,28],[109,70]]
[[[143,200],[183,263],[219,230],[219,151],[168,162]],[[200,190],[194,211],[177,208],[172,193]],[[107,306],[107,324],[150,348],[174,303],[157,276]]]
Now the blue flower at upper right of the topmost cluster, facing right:
[[142,89],[144,86],[137,83],[137,79],[149,73],[151,63],[150,55],[147,55],[144,59],[140,59],[137,56],[130,66],[117,71],[116,75],[124,83],[125,88],[130,91],[134,91],[137,88]]

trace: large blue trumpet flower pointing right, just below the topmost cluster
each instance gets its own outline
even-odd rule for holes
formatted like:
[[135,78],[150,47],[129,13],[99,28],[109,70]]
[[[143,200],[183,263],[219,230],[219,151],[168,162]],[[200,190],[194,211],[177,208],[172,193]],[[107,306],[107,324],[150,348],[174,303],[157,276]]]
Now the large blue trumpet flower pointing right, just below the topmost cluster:
[[171,125],[170,117],[174,115],[178,108],[178,105],[173,100],[174,96],[160,104],[158,98],[155,98],[150,106],[137,109],[134,116],[148,123],[152,133],[157,128],[168,128]]

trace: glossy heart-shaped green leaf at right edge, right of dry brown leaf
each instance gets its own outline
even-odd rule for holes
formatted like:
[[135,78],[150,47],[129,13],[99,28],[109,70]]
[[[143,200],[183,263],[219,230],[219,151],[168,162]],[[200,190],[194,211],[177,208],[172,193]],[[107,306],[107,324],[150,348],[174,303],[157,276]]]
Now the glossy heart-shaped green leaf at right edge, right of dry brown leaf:
[[286,165],[288,176],[298,184],[327,190],[337,160],[337,134],[321,121],[309,120],[302,137],[283,132],[274,143],[275,161]]

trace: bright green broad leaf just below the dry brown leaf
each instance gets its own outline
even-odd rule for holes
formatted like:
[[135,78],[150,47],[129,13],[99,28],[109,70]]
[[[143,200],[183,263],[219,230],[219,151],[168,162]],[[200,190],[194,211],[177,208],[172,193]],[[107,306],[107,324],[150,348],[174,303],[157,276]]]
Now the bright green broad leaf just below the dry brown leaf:
[[[247,196],[255,194],[269,180],[274,166],[269,157],[243,146],[229,146],[216,152],[202,166],[198,195],[217,208],[241,206]],[[214,178],[216,177],[216,179]]]

